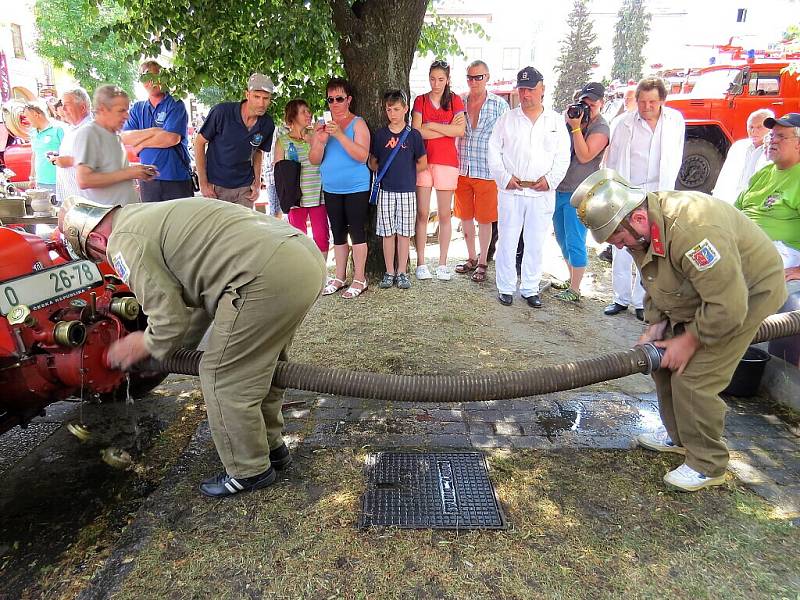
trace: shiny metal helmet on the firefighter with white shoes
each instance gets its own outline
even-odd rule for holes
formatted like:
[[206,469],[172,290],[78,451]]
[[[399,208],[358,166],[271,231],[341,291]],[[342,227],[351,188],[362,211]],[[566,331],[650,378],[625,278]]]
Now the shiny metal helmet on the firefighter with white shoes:
[[631,185],[613,169],[600,169],[583,180],[573,192],[570,204],[591,230],[592,237],[602,244],[646,197],[644,189]]

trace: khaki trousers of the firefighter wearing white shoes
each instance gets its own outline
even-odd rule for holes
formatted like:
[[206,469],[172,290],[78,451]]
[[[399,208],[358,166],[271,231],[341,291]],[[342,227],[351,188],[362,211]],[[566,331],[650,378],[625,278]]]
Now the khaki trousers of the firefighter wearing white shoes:
[[[673,442],[686,448],[686,464],[707,477],[722,475],[730,458],[722,441],[727,405],[719,393],[730,383],[739,360],[770,314],[748,314],[742,327],[724,343],[698,349],[682,375],[669,369],[653,373],[667,433]],[[677,324],[671,330],[667,328],[665,337],[682,332],[683,325]]]

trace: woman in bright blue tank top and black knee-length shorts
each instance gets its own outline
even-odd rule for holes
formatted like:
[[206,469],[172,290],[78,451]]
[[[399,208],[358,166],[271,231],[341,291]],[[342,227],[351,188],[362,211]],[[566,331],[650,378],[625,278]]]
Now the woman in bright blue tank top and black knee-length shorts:
[[366,224],[370,172],[366,161],[369,158],[369,128],[364,119],[350,112],[353,94],[346,79],[331,79],[326,91],[332,120],[316,125],[309,154],[311,163],[320,165],[336,260],[336,276],[328,280],[322,294],[335,294],[347,285],[349,234],[353,244],[353,282],[342,298],[357,298],[367,289]]

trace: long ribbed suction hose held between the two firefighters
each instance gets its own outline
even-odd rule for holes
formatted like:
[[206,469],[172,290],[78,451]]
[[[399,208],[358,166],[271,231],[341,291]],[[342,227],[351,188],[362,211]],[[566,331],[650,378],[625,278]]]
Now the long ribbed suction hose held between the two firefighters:
[[[800,334],[800,311],[767,317],[753,343]],[[337,396],[414,402],[470,402],[522,398],[571,390],[592,383],[645,375],[661,365],[662,351],[652,344],[575,362],[527,371],[468,375],[386,375],[278,361],[274,383],[279,387]],[[140,371],[197,375],[203,353],[179,350],[163,362],[145,361]]]

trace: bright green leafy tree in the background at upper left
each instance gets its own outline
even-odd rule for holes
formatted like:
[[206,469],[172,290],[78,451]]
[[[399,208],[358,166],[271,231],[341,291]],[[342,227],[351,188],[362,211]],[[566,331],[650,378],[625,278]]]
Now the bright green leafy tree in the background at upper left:
[[40,56],[68,69],[90,94],[104,83],[133,91],[138,48],[110,30],[127,18],[115,0],[36,0],[34,15]]

